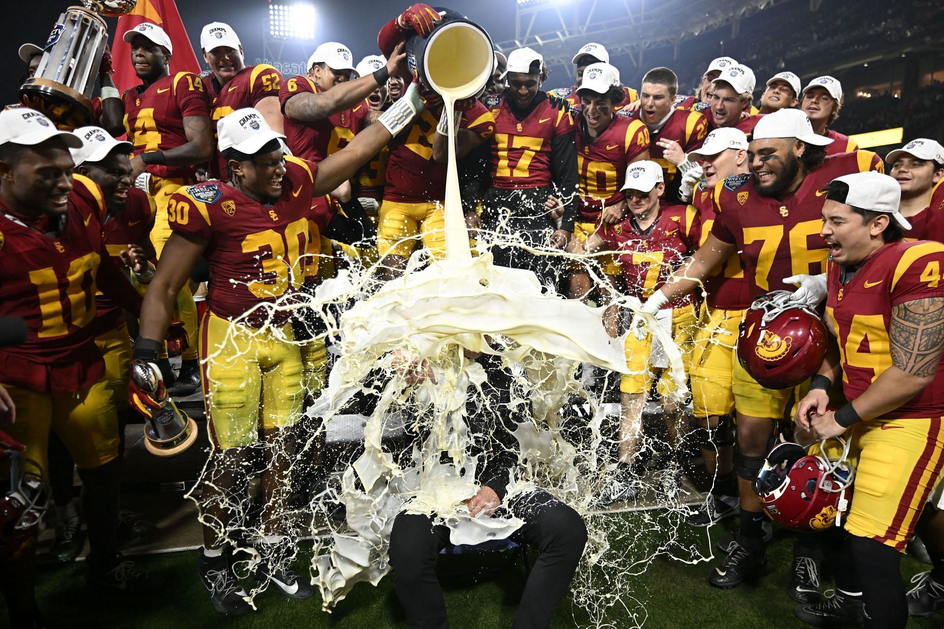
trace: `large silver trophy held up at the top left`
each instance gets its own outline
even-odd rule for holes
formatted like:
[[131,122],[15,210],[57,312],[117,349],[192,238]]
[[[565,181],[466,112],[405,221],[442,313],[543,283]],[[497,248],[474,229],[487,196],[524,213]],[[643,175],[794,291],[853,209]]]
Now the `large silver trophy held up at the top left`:
[[20,102],[63,127],[92,124],[92,94],[109,38],[103,18],[124,15],[136,3],[80,0],[81,7],[67,8],[43,46],[36,74],[20,88]]

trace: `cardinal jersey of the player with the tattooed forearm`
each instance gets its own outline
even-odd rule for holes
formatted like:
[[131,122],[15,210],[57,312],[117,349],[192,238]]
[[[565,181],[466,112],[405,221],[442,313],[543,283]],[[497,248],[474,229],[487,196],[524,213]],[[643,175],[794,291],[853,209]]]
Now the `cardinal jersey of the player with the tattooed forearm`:
[[[826,320],[842,356],[842,390],[850,402],[892,366],[892,309],[918,299],[944,297],[944,244],[929,240],[890,242],[868,258],[852,278],[839,281],[841,267],[829,263]],[[888,419],[944,416],[944,357],[935,379]]]

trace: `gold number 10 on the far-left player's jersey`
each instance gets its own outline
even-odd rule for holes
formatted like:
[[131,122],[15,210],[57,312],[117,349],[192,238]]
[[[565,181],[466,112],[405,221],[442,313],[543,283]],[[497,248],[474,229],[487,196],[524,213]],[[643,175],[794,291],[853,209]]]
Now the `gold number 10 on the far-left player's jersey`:
[[[46,267],[38,271],[29,272],[29,281],[36,287],[40,298],[40,313],[42,324],[37,336],[40,339],[60,337],[69,331],[69,323],[76,327],[85,327],[95,316],[94,290],[86,290],[85,282],[88,273],[92,272],[100,257],[91,252],[82,257],[76,257],[69,264],[66,272],[65,295],[69,300],[71,310],[70,321],[66,322],[62,312],[62,295],[59,290],[59,277],[53,267]],[[111,262],[108,262],[111,264]],[[90,282],[91,288],[91,282]],[[90,307],[91,306],[91,307]]]

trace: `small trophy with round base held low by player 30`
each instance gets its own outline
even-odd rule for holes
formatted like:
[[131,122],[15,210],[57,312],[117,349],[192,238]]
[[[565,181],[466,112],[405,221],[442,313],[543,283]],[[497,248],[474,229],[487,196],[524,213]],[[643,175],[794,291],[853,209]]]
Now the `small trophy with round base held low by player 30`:
[[177,408],[167,394],[160,368],[153,362],[131,361],[127,399],[144,422],[144,447],[152,455],[173,456],[194,444],[196,422]]

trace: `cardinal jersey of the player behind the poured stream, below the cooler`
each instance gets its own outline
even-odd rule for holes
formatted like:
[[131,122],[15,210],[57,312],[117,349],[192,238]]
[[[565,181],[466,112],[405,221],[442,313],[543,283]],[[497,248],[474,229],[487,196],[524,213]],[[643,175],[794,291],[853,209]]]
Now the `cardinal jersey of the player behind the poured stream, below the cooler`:
[[[383,198],[397,203],[428,203],[446,199],[446,164],[433,161],[432,141],[443,113],[440,105],[424,109],[408,130],[390,141]],[[480,102],[464,111],[459,128],[487,141],[495,132],[495,117]]]

